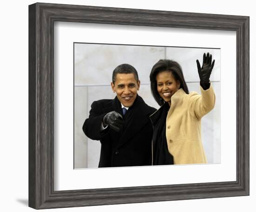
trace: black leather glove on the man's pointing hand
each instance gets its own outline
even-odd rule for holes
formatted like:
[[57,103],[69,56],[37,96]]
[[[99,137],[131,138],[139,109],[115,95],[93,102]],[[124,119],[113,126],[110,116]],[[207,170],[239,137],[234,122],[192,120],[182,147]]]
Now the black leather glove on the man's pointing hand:
[[111,111],[103,117],[103,126],[106,127],[108,125],[116,132],[121,130],[123,123],[124,121],[121,114],[115,111]]

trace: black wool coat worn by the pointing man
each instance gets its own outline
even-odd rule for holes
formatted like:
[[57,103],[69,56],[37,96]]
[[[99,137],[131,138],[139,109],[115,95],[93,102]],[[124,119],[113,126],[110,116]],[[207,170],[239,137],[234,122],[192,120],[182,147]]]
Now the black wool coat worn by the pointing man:
[[107,113],[116,111],[122,114],[121,103],[117,97],[93,102],[83,131],[90,139],[101,141],[99,167],[151,165],[153,126],[149,116],[155,110],[137,95],[123,117],[121,131],[115,132],[109,126],[101,131],[101,122]]

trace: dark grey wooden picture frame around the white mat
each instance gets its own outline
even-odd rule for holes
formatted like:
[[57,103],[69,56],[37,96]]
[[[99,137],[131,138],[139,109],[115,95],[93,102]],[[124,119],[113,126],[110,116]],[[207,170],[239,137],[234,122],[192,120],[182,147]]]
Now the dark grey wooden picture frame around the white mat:
[[[235,31],[236,181],[54,191],[54,21]],[[246,195],[249,195],[249,17],[46,3],[29,6],[30,207]]]

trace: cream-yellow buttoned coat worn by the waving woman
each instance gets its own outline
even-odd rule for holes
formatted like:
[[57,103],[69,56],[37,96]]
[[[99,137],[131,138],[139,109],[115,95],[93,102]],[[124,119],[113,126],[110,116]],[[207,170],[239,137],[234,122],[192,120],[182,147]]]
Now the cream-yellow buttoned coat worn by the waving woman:
[[166,139],[174,164],[207,163],[201,141],[201,118],[215,105],[212,86],[201,88],[201,94],[185,93],[179,89],[171,97],[171,107],[166,118]]

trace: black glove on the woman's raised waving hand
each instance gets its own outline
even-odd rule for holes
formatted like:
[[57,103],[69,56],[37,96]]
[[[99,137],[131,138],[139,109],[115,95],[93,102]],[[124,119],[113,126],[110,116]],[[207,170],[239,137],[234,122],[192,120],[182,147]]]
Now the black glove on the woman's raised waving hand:
[[198,60],[196,60],[197,70],[200,78],[200,85],[203,90],[207,90],[210,87],[210,75],[214,66],[215,60],[212,61],[212,55],[207,53],[203,54],[202,68]]

